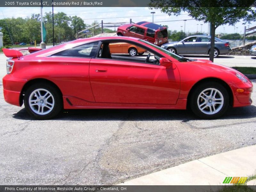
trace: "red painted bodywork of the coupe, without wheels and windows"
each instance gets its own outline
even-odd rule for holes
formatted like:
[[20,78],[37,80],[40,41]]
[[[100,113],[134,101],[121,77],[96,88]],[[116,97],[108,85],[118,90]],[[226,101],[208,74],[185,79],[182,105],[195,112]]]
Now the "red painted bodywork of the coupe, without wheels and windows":
[[[150,49],[169,59],[172,69],[131,61],[110,62],[109,59],[102,58],[49,57],[77,45],[109,39],[128,40],[148,47],[148,44],[137,38],[98,37],[78,39],[21,56],[19,59],[14,58],[12,73],[3,78],[5,101],[20,106],[25,84],[35,79],[46,79],[59,87],[65,109],[186,109],[192,87],[205,78],[216,78],[230,87],[233,107],[251,104],[252,83],[238,79],[238,71],[208,60],[179,62],[155,47]],[[237,89],[245,91],[237,92]]]

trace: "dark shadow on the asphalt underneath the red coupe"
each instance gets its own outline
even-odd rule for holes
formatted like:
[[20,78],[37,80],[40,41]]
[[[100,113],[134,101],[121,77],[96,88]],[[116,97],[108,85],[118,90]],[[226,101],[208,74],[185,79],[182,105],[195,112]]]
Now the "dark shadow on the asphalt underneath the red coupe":
[[[12,116],[15,119],[35,120],[22,108]],[[248,119],[256,117],[254,105],[230,108],[227,113],[219,119]],[[202,120],[196,117],[191,110],[160,110],[160,109],[68,109],[63,110],[60,115],[52,120],[70,121],[170,121],[180,120]]]

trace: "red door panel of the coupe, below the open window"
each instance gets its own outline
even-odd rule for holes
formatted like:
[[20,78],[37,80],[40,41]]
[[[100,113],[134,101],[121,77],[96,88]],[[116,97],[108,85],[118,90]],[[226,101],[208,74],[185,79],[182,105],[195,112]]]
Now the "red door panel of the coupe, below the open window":
[[96,102],[176,104],[179,97],[177,68],[96,57],[90,61],[89,74]]

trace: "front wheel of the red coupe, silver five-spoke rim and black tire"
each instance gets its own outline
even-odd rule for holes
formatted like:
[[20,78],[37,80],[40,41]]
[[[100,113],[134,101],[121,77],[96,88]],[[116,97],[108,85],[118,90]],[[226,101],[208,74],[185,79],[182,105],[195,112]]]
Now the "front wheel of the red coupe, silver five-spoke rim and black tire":
[[[207,89],[209,89],[209,91]],[[213,94],[215,93],[214,92],[215,90],[219,91],[219,92],[218,91],[216,92],[216,95],[215,95],[216,98],[206,97],[203,95],[202,92],[205,90],[206,91],[204,93],[206,93],[207,96],[208,96],[207,92],[209,92],[209,95],[211,95],[211,89],[213,90]],[[190,108],[196,116],[202,119],[215,119],[222,116],[227,111],[229,107],[229,95],[228,95],[227,89],[223,85],[216,82],[206,82],[206,83],[199,84],[192,91],[193,92],[191,93],[190,98],[188,99],[189,99]],[[203,95],[205,99],[202,99],[202,97],[199,97],[199,95]],[[222,101],[223,101],[223,105],[216,104]],[[202,109],[203,111],[200,110],[199,108],[200,105],[202,105],[201,109],[206,106],[204,109]],[[214,112],[214,109],[215,109],[215,112]]]

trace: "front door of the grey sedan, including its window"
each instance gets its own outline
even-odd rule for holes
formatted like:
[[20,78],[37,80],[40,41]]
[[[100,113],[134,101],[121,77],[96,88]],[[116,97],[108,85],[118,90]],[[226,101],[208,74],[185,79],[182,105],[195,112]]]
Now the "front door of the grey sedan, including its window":
[[178,43],[179,54],[195,54],[196,37],[190,37]]

